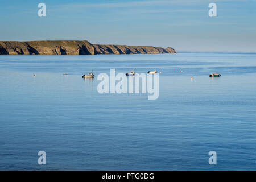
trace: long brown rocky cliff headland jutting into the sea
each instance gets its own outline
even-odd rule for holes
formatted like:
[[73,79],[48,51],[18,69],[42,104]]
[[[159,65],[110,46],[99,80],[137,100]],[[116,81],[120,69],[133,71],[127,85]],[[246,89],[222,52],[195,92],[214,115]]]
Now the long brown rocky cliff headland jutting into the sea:
[[0,41],[0,55],[98,55],[177,53],[173,48],[91,44],[86,40]]

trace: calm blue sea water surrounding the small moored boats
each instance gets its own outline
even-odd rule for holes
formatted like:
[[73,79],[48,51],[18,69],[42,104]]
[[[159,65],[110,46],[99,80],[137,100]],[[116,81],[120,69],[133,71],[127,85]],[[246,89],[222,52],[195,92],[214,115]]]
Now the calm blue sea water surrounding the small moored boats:
[[[98,93],[110,68],[158,70],[159,98]],[[0,169],[256,170],[255,77],[256,53],[2,55]]]

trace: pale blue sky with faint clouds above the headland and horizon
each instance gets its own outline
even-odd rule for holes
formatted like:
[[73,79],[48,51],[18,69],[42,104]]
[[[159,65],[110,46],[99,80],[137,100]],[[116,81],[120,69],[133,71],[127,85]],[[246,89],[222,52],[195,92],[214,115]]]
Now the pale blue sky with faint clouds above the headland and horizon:
[[[210,17],[209,3],[217,16]],[[38,4],[46,4],[46,17]],[[88,40],[178,52],[256,52],[256,0],[0,0],[0,40]]]

